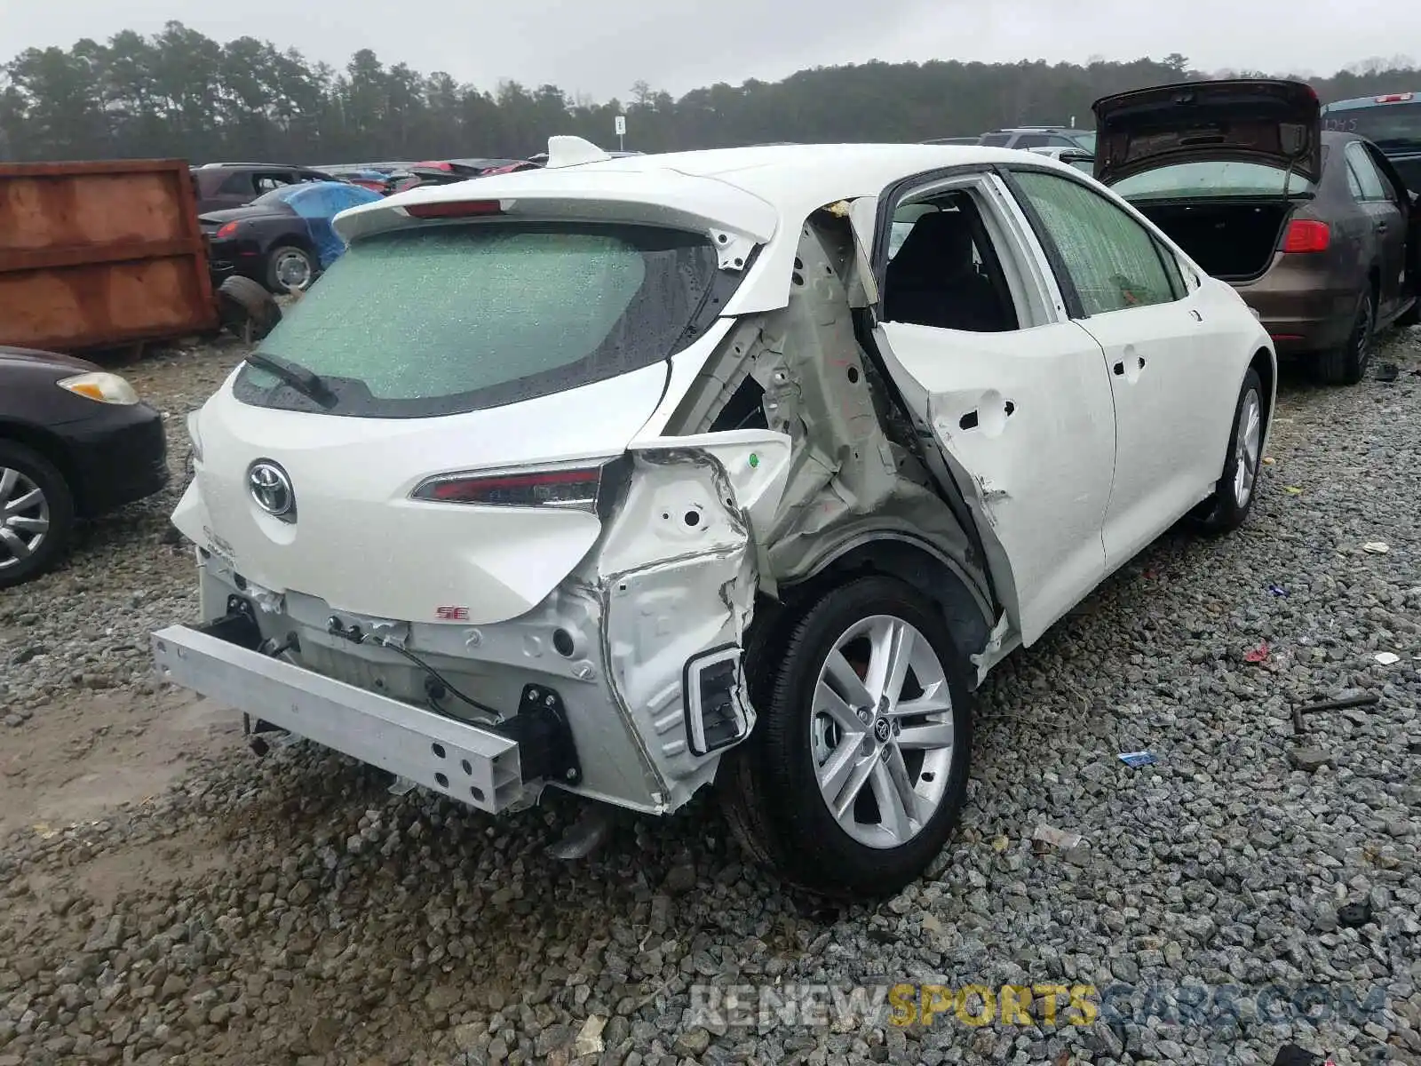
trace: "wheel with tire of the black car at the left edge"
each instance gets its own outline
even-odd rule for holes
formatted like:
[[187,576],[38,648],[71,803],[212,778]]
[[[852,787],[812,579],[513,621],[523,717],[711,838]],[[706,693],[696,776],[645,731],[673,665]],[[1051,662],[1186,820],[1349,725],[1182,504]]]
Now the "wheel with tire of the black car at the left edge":
[[38,452],[0,441],[0,588],[53,567],[72,532],[74,493],[64,475]]

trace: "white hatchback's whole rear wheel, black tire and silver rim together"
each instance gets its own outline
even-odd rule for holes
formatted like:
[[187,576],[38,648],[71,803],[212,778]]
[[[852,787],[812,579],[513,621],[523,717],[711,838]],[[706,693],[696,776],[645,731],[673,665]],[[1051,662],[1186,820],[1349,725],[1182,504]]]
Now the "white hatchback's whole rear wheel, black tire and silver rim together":
[[[899,715],[890,701],[872,715],[860,701],[863,721],[840,701],[838,718],[827,715],[830,701],[821,691],[830,689],[824,678],[831,655],[840,652],[833,685],[844,688],[847,681],[853,687],[843,650],[858,658],[867,654],[868,641],[855,631],[888,632],[890,627],[912,638],[904,702],[921,701],[932,714]],[[776,635],[746,651],[759,718],[750,738],[722,766],[728,820],[752,856],[801,888],[853,898],[897,893],[938,856],[962,810],[972,752],[968,659],[941,611],[909,586],[877,574],[830,587],[787,610],[774,630]],[[871,659],[870,654],[860,675],[868,679],[870,696],[877,672]],[[902,746],[905,733],[941,746]],[[820,787],[820,775],[831,766],[843,770],[833,775],[843,786],[840,799],[864,782],[843,820],[831,813]],[[912,822],[899,819],[897,833],[885,813],[892,809],[887,797],[905,795],[894,787],[895,775],[912,786],[918,814]],[[897,810],[905,814],[907,802]]]

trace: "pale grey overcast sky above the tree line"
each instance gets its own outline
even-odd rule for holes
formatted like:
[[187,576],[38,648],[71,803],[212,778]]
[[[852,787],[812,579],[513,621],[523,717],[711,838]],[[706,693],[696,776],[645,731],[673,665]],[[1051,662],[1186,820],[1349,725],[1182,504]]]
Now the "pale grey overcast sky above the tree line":
[[[342,67],[372,48],[387,64],[625,98],[638,78],[675,95],[715,81],[774,81],[865,60],[1162,58],[1201,70],[1331,74],[1417,43],[1421,4],[1395,0],[0,0],[0,63],[176,18],[226,41],[253,36]],[[442,10],[441,10],[442,9]],[[368,13],[364,18],[362,13]],[[730,27],[737,27],[736,33]],[[1421,88],[1421,87],[1418,87]]]

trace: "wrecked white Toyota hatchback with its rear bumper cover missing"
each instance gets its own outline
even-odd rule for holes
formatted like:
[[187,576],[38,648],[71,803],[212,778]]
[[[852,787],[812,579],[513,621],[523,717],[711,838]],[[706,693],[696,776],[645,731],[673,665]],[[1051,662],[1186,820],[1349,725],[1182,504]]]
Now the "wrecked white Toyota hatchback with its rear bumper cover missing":
[[338,216],[190,419],[203,620],[158,667],[486,812],[713,785],[789,881],[894,891],[988,671],[1243,522],[1268,334],[1042,155],[550,156]]

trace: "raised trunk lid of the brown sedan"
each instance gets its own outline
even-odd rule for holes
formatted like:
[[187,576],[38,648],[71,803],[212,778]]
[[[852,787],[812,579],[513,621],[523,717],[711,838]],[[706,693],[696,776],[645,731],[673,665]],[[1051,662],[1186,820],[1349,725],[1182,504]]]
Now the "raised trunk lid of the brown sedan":
[[1096,178],[1106,185],[1157,166],[1242,159],[1322,179],[1322,105],[1300,81],[1187,81],[1097,99]]

